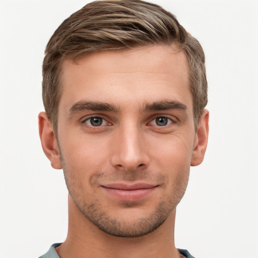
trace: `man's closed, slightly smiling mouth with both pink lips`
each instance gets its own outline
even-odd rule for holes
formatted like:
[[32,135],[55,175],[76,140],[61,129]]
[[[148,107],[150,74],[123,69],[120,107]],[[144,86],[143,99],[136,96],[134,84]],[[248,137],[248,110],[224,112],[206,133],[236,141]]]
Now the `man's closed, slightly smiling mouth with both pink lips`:
[[120,201],[139,201],[147,198],[153,191],[158,188],[159,185],[152,185],[147,183],[135,183],[135,184],[124,184],[124,183],[112,183],[102,185],[102,188],[112,198]]

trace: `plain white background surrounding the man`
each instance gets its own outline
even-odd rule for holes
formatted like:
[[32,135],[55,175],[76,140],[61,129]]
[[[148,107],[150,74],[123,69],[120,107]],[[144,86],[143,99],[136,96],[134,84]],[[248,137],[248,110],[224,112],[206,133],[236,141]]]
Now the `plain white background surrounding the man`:
[[[177,209],[176,246],[197,258],[258,257],[258,1],[153,1],[207,56],[210,140]],[[0,0],[0,257],[36,258],[67,234],[68,192],[41,150],[41,63],[87,1]]]

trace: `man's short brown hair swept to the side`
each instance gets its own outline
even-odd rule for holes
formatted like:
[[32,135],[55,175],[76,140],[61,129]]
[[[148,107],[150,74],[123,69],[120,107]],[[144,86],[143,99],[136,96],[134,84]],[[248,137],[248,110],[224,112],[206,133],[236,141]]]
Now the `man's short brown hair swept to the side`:
[[175,16],[158,5],[140,0],[95,1],[64,20],[50,38],[42,66],[45,111],[57,133],[61,95],[61,63],[65,58],[137,45],[175,43],[189,61],[190,91],[195,128],[207,105],[205,55],[199,41]]

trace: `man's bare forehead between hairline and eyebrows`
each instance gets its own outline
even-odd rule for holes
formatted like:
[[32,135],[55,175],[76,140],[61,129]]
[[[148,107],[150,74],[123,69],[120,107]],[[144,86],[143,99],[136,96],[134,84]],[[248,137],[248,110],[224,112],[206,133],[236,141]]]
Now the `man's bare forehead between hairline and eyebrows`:
[[191,102],[188,71],[185,53],[164,45],[102,51],[76,62],[66,59],[60,107],[84,99],[117,104],[157,98]]

